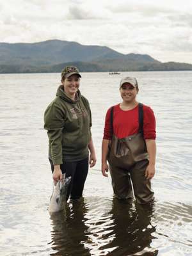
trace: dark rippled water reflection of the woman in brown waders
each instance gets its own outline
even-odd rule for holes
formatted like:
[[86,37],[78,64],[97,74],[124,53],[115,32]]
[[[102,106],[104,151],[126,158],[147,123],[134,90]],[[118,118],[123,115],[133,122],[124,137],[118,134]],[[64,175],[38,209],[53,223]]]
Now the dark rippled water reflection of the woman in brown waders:
[[151,223],[153,212],[154,204],[126,204],[114,199],[111,219],[115,238],[109,246],[116,249],[108,255],[157,255],[157,250],[150,248],[155,238],[152,233],[156,231]]

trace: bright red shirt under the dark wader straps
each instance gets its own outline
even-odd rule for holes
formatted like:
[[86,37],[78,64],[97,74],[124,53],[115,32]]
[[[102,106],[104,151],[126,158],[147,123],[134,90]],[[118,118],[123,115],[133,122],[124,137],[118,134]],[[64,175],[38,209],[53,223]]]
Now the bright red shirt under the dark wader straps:
[[[111,140],[113,134],[110,122],[111,108],[106,113],[103,139]],[[113,133],[119,139],[138,133],[139,115],[138,106],[131,110],[122,110],[120,104],[113,108]],[[144,139],[156,139],[156,118],[148,106],[143,105],[143,136]]]

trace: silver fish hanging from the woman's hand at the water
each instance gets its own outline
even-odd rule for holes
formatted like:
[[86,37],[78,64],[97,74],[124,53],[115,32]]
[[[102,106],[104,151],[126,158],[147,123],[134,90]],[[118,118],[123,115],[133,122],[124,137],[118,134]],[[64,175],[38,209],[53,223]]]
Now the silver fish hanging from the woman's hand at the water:
[[70,184],[70,180],[71,177],[65,178],[65,175],[63,175],[63,179],[59,180],[56,186],[53,186],[54,188],[49,203],[50,214],[65,209],[67,188]]

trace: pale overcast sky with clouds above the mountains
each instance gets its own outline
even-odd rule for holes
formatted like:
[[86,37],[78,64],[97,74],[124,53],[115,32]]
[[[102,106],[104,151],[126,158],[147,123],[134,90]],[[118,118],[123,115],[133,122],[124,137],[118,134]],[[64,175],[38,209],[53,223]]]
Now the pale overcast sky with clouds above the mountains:
[[50,39],[192,63],[192,1],[0,0],[0,42]]

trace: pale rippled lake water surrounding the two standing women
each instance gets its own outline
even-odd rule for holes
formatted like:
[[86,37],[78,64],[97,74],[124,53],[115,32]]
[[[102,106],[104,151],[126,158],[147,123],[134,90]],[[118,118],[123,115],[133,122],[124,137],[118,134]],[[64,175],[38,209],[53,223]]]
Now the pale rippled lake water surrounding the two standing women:
[[[83,200],[52,218],[43,115],[60,74],[0,75],[0,255],[192,255],[192,72],[82,75],[97,165],[88,173]],[[138,78],[138,100],[157,119],[156,202],[148,207],[114,200],[110,177],[100,173],[104,116],[120,102],[118,84],[127,75]]]

